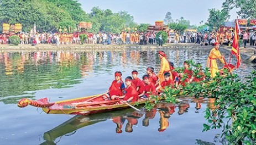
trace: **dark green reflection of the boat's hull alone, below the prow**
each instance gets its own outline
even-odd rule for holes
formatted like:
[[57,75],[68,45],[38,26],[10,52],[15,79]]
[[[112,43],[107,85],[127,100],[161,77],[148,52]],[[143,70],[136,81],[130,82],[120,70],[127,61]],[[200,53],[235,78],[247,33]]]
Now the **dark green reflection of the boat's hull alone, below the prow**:
[[[44,133],[44,143],[41,144],[55,144],[54,141],[56,138],[67,135],[67,133],[75,133],[76,130],[81,129],[82,127],[96,124],[98,122],[106,121],[117,116],[130,116],[132,109],[125,109],[122,111],[112,111],[104,114],[93,114],[93,115],[76,115],[73,118],[67,120],[61,125],[55,127],[52,130],[49,130]],[[72,135],[72,134],[71,134]]]

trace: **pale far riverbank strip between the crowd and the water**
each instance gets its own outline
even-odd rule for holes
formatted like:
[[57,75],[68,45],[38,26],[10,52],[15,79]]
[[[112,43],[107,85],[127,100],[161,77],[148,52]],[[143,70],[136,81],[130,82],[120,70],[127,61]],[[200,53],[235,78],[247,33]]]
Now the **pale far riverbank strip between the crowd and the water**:
[[[36,46],[32,46],[30,44],[19,44],[19,46],[11,46],[11,45],[0,45],[0,52],[35,52],[35,51],[101,51],[101,50],[122,50],[122,49],[156,49],[159,48],[157,44],[153,45],[144,45],[140,46],[138,44],[124,44],[124,45],[102,45],[102,44],[61,44],[60,46],[56,46],[53,44],[38,44]],[[193,43],[179,43],[179,44],[164,44],[163,48],[197,48],[197,49],[211,49],[212,46],[200,46],[198,44]],[[232,47],[224,46],[222,47],[226,51],[231,51]],[[256,47],[247,48],[241,47],[240,53],[243,62],[254,62],[256,63]]]

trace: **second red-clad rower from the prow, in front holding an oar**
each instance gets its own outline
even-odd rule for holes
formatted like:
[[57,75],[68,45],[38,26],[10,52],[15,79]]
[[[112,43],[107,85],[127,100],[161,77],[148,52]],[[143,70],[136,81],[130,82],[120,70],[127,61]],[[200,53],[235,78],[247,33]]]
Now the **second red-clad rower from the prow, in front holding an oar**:
[[[111,97],[112,100],[114,99],[122,99],[121,103],[125,103],[125,102],[136,102],[139,98],[138,96],[138,92],[136,90],[135,85],[133,84],[133,79],[132,77],[128,76],[126,77],[126,89],[124,90],[126,94],[124,94],[124,96],[116,96],[113,95]],[[119,103],[117,103],[119,104]]]

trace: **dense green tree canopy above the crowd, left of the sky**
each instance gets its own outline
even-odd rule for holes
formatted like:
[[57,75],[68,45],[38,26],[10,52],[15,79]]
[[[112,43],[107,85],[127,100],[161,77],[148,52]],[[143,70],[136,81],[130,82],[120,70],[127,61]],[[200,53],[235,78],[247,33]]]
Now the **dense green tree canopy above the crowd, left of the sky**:
[[119,33],[125,27],[137,27],[128,12],[113,13],[110,9],[94,7],[86,14],[77,0],[0,0],[0,25],[3,23],[23,26],[30,31],[33,24],[40,32],[67,29],[77,31],[81,21],[92,22],[90,31]]

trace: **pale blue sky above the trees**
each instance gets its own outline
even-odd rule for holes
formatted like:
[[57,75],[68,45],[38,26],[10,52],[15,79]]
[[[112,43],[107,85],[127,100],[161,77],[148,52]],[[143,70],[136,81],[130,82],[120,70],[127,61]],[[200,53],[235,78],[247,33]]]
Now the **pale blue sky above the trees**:
[[[165,14],[171,12],[173,19],[181,16],[190,20],[191,24],[207,21],[208,9],[221,9],[225,0],[79,0],[83,10],[90,13],[93,7],[111,9],[113,13],[121,10],[133,15],[135,23],[154,24],[156,20],[164,20]],[[231,18],[236,18],[236,10],[231,11]]]

